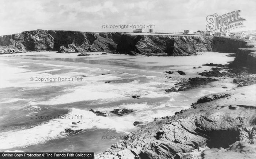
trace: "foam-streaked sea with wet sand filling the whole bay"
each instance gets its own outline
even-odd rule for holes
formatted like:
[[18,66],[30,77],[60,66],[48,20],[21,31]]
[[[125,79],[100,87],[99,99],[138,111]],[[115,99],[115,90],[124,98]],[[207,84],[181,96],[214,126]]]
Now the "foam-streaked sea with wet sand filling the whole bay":
[[[176,57],[78,54],[0,55],[0,152],[98,154],[138,130],[133,125],[136,121],[147,124],[174,115],[204,95],[235,87],[227,77],[188,91],[165,92],[212,68],[203,64],[230,63],[234,60],[230,53]],[[110,112],[124,108],[134,111],[122,116]],[[107,116],[97,116],[91,109]]]

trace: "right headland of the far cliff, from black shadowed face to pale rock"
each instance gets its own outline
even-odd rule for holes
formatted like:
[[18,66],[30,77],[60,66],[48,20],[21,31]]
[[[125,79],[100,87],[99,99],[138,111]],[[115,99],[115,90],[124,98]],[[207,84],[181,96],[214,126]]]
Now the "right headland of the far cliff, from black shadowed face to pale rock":
[[131,55],[187,56],[199,51],[212,51],[212,37],[123,35],[118,52]]

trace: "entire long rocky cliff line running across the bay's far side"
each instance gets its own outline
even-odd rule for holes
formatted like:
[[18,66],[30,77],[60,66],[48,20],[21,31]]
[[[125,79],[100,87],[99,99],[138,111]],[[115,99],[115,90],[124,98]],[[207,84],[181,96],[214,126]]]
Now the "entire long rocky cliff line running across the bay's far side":
[[101,52],[188,56],[200,51],[236,53],[233,66],[256,71],[256,42],[211,36],[131,35],[122,32],[34,30],[0,36],[0,54],[24,51]]

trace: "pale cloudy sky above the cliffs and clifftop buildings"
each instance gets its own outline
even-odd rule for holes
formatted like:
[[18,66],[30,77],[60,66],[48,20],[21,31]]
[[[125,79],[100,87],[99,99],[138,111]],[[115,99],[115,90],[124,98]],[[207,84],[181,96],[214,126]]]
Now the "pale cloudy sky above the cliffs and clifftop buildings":
[[255,6],[256,0],[0,0],[0,35],[35,29],[132,32],[136,28],[131,25],[154,25],[153,31],[165,33],[196,32],[206,30],[208,15],[235,10],[246,19],[237,31],[256,30]]

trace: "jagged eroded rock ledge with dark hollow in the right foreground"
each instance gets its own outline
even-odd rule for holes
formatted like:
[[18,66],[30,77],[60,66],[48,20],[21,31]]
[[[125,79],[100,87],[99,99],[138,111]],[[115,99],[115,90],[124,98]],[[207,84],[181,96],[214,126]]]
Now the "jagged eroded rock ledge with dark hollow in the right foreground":
[[[254,158],[256,85],[200,98],[175,116],[155,119],[98,154],[101,159]],[[205,99],[205,100],[204,100]]]

